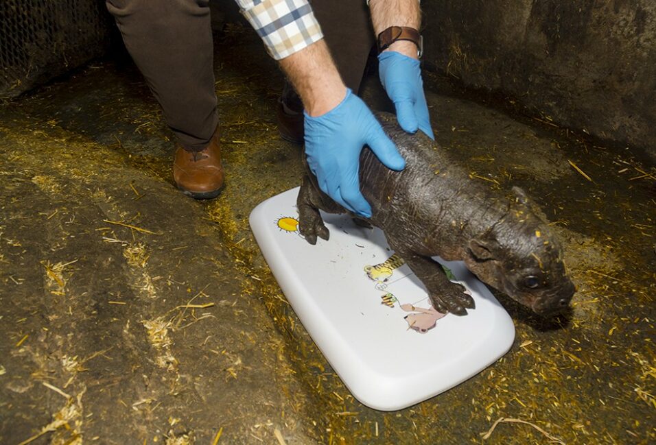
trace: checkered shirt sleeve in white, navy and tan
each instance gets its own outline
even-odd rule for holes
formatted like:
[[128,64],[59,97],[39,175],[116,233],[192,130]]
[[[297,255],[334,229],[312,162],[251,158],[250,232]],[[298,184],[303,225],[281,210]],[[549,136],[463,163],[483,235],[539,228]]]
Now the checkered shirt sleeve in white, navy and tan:
[[307,0],[237,0],[237,3],[275,60],[291,56],[323,38]]

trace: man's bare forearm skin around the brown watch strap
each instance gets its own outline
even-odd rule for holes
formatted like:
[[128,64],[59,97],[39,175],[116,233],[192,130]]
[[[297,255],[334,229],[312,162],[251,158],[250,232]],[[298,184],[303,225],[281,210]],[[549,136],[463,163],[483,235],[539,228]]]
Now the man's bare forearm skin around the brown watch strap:
[[[376,35],[390,26],[408,26],[419,29],[419,25],[421,25],[419,0],[371,0],[369,8]],[[417,46],[407,40],[393,43],[386,51],[397,51],[417,59]]]

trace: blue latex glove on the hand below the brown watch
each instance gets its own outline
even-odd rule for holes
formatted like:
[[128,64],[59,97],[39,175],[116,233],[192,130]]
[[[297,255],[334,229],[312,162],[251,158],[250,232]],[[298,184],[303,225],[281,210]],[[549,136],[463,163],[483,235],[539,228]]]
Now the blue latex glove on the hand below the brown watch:
[[380,82],[394,102],[401,128],[408,133],[419,129],[435,140],[423,93],[419,60],[396,51],[386,51],[379,54],[378,62]]

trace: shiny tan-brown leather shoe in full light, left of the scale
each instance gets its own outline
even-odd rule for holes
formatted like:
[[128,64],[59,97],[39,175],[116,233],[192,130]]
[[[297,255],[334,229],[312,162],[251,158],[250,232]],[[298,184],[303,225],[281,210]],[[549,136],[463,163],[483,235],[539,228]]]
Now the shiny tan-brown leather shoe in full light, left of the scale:
[[189,152],[183,147],[176,149],[173,180],[180,191],[196,200],[211,200],[221,193],[224,173],[218,129],[209,145],[200,152]]

